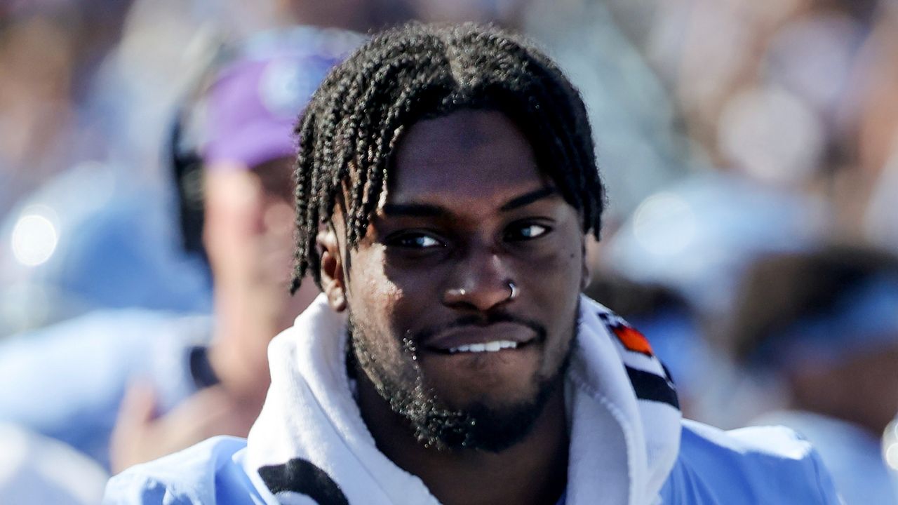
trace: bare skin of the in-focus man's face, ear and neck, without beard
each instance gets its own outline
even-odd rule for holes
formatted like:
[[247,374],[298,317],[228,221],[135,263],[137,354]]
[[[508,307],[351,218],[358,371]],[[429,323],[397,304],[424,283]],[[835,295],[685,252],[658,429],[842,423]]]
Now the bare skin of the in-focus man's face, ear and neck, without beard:
[[[555,503],[568,471],[559,368],[588,277],[580,216],[541,174],[524,135],[496,111],[412,125],[393,163],[386,197],[357,248],[346,248],[339,206],[318,238],[330,306],[351,310],[377,364],[357,369],[362,417],[377,447],[443,503]],[[497,314],[512,322],[489,323]],[[531,324],[518,323],[524,318]],[[453,326],[460,320],[469,323]],[[403,350],[403,339],[414,352]],[[517,347],[446,351],[489,341]],[[384,377],[402,384],[417,377],[452,409],[479,402],[502,412],[532,401],[541,381],[552,389],[515,445],[437,450],[377,392]]]

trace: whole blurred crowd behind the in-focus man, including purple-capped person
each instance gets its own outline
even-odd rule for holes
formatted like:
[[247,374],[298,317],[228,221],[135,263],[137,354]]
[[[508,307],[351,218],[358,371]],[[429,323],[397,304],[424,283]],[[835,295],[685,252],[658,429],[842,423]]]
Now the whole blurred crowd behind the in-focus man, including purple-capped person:
[[0,501],[245,435],[314,296],[286,296],[295,112],[409,20],[513,28],[577,85],[609,195],[587,294],[687,416],[791,426],[846,503],[898,503],[894,0],[5,1]]

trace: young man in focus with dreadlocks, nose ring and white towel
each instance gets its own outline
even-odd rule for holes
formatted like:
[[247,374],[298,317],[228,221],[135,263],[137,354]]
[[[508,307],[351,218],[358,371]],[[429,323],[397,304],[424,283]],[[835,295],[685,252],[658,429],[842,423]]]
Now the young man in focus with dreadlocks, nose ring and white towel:
[[836,503],[781,429],[682,421],[648,342],[580,295],[603,190],[583,103],[475,25],[386,31],[301,128],[294,288],[247,441],[114,479],[107,501]]

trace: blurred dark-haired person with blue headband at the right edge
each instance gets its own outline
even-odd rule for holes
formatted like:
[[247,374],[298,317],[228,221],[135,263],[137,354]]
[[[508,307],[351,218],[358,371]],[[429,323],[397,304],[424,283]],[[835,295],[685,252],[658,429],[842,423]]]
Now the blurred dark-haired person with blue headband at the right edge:
[[898,412],[898,258],[858,245],[763,258],[730,335],[767,392],[753,423],[809,439],[846,504],[898,503],[880,449]]

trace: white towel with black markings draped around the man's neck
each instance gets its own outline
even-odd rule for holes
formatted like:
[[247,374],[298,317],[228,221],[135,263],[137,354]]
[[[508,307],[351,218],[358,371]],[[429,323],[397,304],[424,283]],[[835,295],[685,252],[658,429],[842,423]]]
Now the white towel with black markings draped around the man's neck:
[[[566,505],[643,505],[680,447],[674,385],[641,335],[582,297],[565,386],[570,424]],[[438,503],[384,456],[365,427],[346,368],[346,319],[318,297],[269,346],[271,387],[244,465],[273,503]],[[277,498],[276,498],[277,497]],[[306,500],[306,501],[304,501]]]

